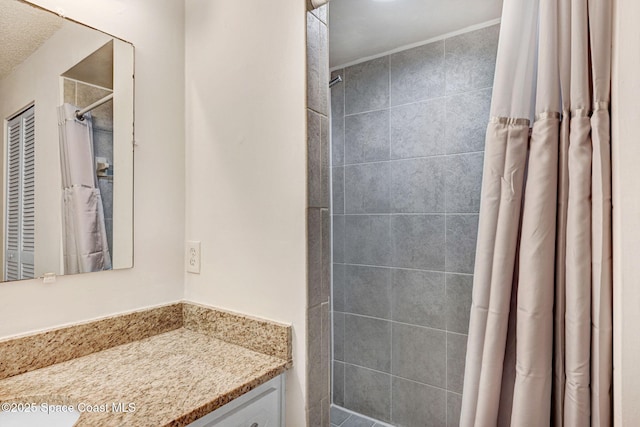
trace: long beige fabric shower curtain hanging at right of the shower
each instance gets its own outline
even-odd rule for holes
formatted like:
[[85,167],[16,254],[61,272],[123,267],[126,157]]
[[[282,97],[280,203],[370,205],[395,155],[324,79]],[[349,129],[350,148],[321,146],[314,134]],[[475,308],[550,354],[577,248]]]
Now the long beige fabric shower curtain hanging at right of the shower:
[[609,426],[611,1],[500,31],[460,425]]

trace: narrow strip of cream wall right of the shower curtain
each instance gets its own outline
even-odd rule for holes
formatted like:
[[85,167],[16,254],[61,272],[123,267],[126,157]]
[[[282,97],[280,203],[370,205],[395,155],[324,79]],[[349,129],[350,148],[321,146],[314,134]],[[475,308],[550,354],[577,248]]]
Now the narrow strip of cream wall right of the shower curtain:
[[614,424],[640,425],[640,2],[614,2],[612,76]]

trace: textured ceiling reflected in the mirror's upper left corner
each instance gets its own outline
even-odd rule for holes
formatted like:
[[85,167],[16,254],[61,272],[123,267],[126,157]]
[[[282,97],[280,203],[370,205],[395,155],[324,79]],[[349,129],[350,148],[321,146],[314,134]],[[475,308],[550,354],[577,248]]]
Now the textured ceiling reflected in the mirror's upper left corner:
[[19,0],[0,0],[0,79],[35,52],[64,20]]

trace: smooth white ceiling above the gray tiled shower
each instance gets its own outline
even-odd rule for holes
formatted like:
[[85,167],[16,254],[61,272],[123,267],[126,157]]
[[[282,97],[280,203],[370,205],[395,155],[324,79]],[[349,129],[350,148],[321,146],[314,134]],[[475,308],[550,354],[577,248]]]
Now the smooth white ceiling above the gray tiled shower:
[[331,67],[500,18],[502,0],[331,0]]

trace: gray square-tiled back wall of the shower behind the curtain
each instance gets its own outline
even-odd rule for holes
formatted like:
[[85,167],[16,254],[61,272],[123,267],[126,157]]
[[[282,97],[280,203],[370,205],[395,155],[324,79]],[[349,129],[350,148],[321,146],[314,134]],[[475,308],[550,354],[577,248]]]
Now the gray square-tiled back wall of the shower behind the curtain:
[[333,73],[333,403],[458,424],[492,26]]

